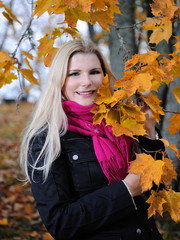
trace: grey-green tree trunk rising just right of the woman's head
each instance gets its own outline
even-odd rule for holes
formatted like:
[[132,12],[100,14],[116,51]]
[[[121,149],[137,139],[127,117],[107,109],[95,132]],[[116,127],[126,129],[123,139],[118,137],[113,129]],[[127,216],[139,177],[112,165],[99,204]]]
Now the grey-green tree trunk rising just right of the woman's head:
[[135,34],[133,26],[135,23],[134,0],[119,0],[122,15],[115,14],[114,22],[119,28],[111,26],[109,39],[111,69],[117,78],[123,76],[124,63],[136,53]]

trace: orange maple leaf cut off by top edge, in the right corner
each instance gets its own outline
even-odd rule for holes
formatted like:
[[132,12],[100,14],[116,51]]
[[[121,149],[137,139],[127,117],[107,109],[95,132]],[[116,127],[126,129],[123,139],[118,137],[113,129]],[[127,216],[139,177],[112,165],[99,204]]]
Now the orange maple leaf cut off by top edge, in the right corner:
[[153,0],[153,2],[154,3],[150,4],[150,6],[154,16],[163,15],[171,19],[179,9],[179,7],[175,5],[174,0]]

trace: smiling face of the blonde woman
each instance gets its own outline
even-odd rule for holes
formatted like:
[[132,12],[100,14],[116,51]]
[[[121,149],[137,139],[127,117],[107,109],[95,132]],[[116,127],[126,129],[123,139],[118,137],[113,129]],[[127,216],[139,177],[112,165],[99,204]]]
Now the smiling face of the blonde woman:
[[103,78],[101,63],[94,53],[75,53],[69,61],[63,95],[66,100],[89,106],[93,104]]

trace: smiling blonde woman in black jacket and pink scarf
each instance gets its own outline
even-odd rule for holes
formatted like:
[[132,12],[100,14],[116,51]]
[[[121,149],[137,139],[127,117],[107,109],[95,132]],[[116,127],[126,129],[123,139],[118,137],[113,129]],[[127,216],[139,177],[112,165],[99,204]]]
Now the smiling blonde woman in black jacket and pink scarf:
[[[104,122],[92,125],[90,110],[106,74],[115,80],[92,43],[73,40],[58,50],[25,131],[21,166],[54,239],[162,239],[147,219],[139,176],[127,174],[132,139],[115,137]],[[147,122],[155,138],[152,119]],[[151,151],[162,147],[146,141]]]

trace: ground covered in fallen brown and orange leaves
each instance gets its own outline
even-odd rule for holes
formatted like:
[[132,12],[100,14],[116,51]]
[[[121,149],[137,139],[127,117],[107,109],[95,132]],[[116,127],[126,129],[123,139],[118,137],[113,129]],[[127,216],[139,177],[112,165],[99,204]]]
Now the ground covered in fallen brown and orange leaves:
[[[37,212],[18,163],[20,134],[33,109],[33,104],[0,105],[0,239],[52,240]],[[180,240],[180,224],[157,218],[165,240]]]

